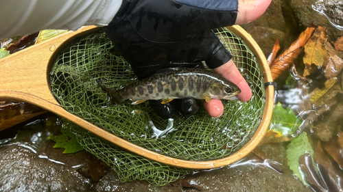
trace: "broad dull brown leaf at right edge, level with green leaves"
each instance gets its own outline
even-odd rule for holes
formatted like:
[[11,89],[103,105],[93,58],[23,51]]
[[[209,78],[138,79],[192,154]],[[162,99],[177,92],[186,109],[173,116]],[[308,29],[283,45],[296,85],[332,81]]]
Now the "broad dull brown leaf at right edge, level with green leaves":
[[[329,107],[333,108],[333,107]],[[331,109],[329,113],[324,115],[324,118],[317,124],[314,124],[312,130],[314,136],[322,141],[329,141],[335,133],[337,133],[337,126],[343,120],[343,103],[341,102],[336,107]]]

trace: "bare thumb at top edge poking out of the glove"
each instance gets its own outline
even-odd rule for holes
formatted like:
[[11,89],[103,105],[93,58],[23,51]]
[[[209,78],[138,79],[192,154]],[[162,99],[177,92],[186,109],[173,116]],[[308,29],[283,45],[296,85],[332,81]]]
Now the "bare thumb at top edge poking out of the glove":
[[235,25],[249,23],[267,10],[272,0],[239,0]]

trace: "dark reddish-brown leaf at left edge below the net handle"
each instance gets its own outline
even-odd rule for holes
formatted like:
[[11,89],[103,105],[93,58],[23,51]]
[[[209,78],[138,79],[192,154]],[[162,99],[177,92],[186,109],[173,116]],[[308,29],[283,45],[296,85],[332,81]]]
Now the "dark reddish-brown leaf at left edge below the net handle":
[[16,102],[0,105],[0,131],[45,113],[29,103]]

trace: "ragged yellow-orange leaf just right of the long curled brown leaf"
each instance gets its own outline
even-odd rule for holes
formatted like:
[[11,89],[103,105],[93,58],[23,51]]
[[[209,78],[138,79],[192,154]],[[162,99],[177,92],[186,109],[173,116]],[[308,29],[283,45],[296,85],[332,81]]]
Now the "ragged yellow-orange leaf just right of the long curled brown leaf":
[[321,68],[324,64],[324,58],[327,55],[324,44],[327,42],[327,28],[320,27],[314,31],[314,35],[305,44],[305,55],[303,58],[305,70],[303,76],[306,77],[313,73],[312,64]]

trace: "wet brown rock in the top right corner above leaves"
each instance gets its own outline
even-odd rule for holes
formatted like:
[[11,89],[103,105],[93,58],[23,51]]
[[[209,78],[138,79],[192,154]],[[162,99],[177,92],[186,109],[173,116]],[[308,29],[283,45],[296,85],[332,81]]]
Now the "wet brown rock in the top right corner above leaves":
[[341,0],[287,0],[296,20],[303,27],[310,23],[327,27],[329,41],[343,36],[343,2]]

